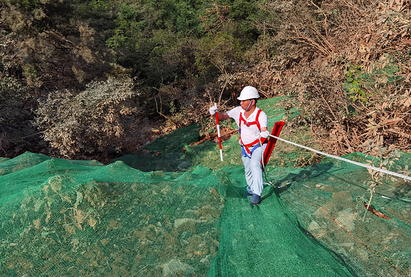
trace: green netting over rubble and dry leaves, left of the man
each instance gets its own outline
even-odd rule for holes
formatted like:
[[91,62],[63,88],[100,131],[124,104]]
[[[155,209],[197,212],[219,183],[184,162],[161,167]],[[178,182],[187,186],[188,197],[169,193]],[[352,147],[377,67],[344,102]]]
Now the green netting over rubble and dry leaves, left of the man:
[[0,176],[0,276],[206,275],[218,248],[221,173],[42,157]]

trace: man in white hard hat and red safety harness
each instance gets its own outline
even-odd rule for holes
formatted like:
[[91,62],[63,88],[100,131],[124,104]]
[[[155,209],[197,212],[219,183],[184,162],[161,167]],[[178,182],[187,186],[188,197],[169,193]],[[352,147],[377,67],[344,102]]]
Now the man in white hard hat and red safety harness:
[[251,204],[258,206],[262,193],[262,153],[266,147],[269,136],[267,130],[267,116],[265,112],[257,108],[257,99],[260,98],[258,91],[253,86],[242,89],[240,106],[228,112],[218,112],[215,106],[210,108],[210,114],[219,116],[219,120],[233,118],[240,132],[240,145],[242,147],[242,163],[245,169],[245,180],[247,180],[247,194],[251,195]]

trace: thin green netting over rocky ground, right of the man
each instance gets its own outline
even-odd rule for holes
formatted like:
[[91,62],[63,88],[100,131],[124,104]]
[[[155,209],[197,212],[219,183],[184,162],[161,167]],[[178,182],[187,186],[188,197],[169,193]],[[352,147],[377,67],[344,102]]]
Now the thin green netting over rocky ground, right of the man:
[[[366,162],[364,155],[345,156]],[[403,153],[395,163],[409,165]],[[290,174],[272,171],[277,180],[294,180],[281,198],[301,227],[339,254],[359,276],[410,276],[411,186],[401,178],[386,178],[371,202],[369,172],[347,162],[325,158]]]

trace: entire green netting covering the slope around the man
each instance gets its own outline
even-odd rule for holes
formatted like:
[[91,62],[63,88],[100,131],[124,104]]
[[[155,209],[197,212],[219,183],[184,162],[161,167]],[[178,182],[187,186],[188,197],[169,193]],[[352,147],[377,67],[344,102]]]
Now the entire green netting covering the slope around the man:
[[[258,102],[271,127],[282,117],[271,116],[276,102]],[[279,187],[250,206],[238,136],[223,142],[221,162],[216,144],[190,146],[197,133],[176,130],[107,166],[28,152],[0,159],[0,276],[411,275],[409,183],[377,186],[377,217],[363,206],[366,169],[272,159],[266,172]],[[277,142],[273,158],[286,147]],[[403,153],[391,168],[410,162]]]

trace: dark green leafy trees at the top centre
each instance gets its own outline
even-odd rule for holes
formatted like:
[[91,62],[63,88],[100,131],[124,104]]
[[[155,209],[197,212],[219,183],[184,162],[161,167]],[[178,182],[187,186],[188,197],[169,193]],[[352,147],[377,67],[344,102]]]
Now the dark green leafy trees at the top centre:
[[[116,62],[123,67],[133,67],[133,76],[147,81],[157,78],[157,84],[153,81],[147,84],[158,87],[160,84],[175,82],[175,74],[172,72],[179,71],[181,67],[176,68],[175,62],[171,64],[169,57],[172,53],[175,55],[179,50],[183,50],[181,40],[195,41],[201,38],[203,36],[201,29],[204,27],[212,34],[200,43],[197,52],[203,53],[203,50],[207,48],[205,44],[209,43],[208,40],[212,40],[211,44],[216,47],[208,48],[221,49],[223,54],[218,54],[215,59],[212,57],[197,58],[197,65],[202,70],[210,64],[218,63],[216,67],[224,71],[225,66],[221,64],[237,62],[232,57],[238,58],[240,52],[245,49],[245,45],[252,45],[256,42],[259,32],[253,25],[253,21],[262,16],[262,10],[258,8],[258,1],[237,0],[227,3],[225,7],[219,7],[214,3],[214,8],[204,10],[207,5],[208,3],[201,0],[122,3],[116,19],[117,27],[113,30],[106,45],[112,49],[121,49],[125,53],[117,58]],[[217,24],[219,21],[224,22],[223,29],[221,29],[222,25]],[[221,36],[221,33],[225,34],[225,37]],[[222,42],[222,39],[225,41]],[[229,39],[231,42],[228,41]],[[229,48],[219,47],[223,45]],[[229,60],[221,61],[221,58],[227,58],[227,52],[232,51],[233,48],[235,48],[234,55],[230,54]],[[197,55],[199,56],[209,55],[204,53],[204,55]],[[210,62],[210,60],[213,61]],[[159,71],[164,71],[164,73],[158,74]],[[185,71],[192,70],[185,69]],[[180,77],[191,76],[181,75]]]

